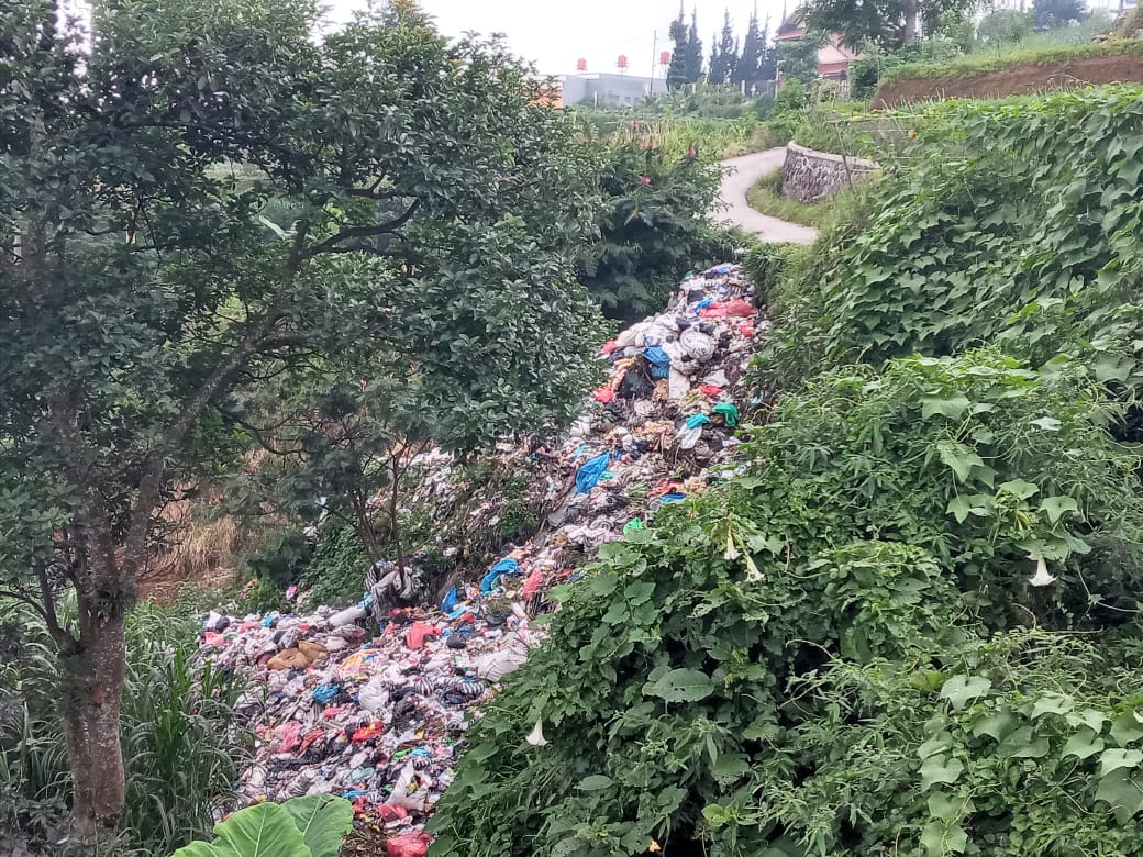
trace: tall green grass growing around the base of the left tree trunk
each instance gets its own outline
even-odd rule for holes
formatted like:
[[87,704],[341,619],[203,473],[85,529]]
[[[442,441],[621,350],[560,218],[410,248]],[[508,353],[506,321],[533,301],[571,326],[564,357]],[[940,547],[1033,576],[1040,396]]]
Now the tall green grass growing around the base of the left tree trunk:
[[[18,620],[25,642],[16,660],[0,664],[0,690],[19,688],[17,722],[7,729],[0,723],[0,787],[23,802],[21,824],[37,841],[55,835],[65,820],[71,787],[55,704],[56,662],[30,614],[0,616],[5,618]],[[235,718],[246,687],[237,674],[199,658],[197,628],[191,611],[179,604],[144,604],[128,619],[122,716],[127,812],[122,841],[98,854],[170,854],[203,838],[215,814],[235,803],[234,785],[253,746]],[[34,817],[40,810],[43,817]],[[0,830],[0,841],[2,835]],[[91,848],[85,844],[74,852],[95,854]],[[65,850],[56,842],[48,852]]]

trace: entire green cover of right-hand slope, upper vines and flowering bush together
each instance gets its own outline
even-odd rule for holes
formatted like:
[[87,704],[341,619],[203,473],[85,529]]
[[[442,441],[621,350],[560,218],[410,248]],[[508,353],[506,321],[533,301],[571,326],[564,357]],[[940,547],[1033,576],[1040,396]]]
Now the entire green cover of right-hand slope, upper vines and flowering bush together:
[[789,392],[561,593],[433,854],[1136,849],[1143,97],[944,110],[812,256],[756,254]]

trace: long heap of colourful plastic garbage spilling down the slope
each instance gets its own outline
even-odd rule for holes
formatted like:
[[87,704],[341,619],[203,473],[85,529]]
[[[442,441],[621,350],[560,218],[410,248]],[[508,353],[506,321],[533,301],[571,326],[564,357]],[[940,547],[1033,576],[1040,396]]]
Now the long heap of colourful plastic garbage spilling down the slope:
[[[702,491],[741,443],[740,381],[767,328],[740,269],[719,265],[607,343],[608,381],[563,442],[497,452],[503,466],[541,474],[539,531],[442,603],[379,602],[383,582],[394,579],[393,563],[379,563],[366,598],[345,610],[211,614],[205,651],[255,680],[240,703],[257,736],[243,792],[343,795],[390,854],[424,854],[421,828],[449,785],[465,729],[542,639],[533,619],[550,608],[549,588],[575,579],[600,544]],[[447,495],[449,458],[430,452],[426,462],[439,470],[424,490]]]

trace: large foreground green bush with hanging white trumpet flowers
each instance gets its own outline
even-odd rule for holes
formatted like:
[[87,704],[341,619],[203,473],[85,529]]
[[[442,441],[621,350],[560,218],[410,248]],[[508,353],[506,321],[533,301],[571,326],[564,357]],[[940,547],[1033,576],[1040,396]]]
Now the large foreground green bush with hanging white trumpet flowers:
[[1103,647],[1138,644],[1143,503],[1108,408],[993,352],[785,395],[742,476],[557,593],[434,854],[1129,851],[1141,672]]

